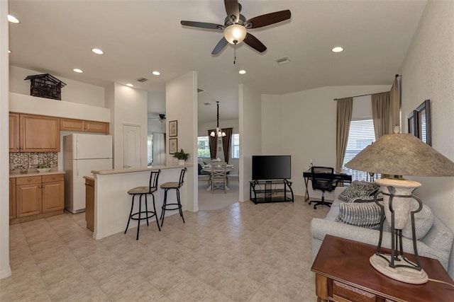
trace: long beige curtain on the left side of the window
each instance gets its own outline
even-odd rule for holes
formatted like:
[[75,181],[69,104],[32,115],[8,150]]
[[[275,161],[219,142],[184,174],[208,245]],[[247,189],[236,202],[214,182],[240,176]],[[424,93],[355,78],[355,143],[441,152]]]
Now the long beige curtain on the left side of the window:
[[337,100],[336,116],[336,172],[342,170],[345,149],[347,149],[348,132],[352,120],[353,98],[340,98]]

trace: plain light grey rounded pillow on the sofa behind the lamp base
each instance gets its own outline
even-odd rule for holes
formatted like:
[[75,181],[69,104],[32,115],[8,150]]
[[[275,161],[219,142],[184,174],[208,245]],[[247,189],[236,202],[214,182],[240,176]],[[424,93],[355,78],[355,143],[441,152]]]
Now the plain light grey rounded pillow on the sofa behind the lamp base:
[[[419,205],[416,200],[413,198],[411,199],[411,206],[410,206],[410,211],[414,211],[418,209]],[[426,234],[430,229],[432,228],[433,225],[433,220],[435,220],[435,216],[433,216],[431,208],[427,207],[426,204],[423,204],[423,209],[419,211],[418,213],[414,214],[414,226],[415,226],[415,233],[416,233],[416,240],[420,240]],[[389,226],[389,223],[387,221],[384,222],[383,226],[383,231],[390,232],[391,231],[391,226]],[[405,238],[413,238],[411,235],[411,215],[409,214],[409,219],[406,221],[405,227],[402,229],[402,236]]]

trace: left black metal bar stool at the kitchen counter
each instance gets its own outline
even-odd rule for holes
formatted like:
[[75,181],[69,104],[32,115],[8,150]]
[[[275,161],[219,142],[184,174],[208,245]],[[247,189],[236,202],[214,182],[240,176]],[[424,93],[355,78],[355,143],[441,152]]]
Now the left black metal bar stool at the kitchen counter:
[[[159,221],[157,221],[156,207],[155,207],[155,194],[154,194],[157,191],[157,179],[159,178],[160,173],[161,173],[161,170],[151,171],[150,183],[149,183],[148,187],[134,187],[133,189],[128,191],[128,194],[133,195],[133,200],[131,202],[131,211],[129,212],[129,219],[128,219],[128,224],[126,224],[125,234],[126,234],[126,231],[128,231],[129,221],[131,221],[131,219],[137,220],[138,221],[137,236],[136,236],[135,240],[139,240],[139,231],[140,231],[140,221],[141,220],[146,219],[147,226],[149,226],[148,219],[155,216],[157,228],[159,229],[159,231],[161,231],[161,228],[159,226]],[[148,194],[150,194],[151,197],[153,197],[153,211],[148,211],[148,202],[147,202]],[[139,195],[139,211],[133,213],[134,197],[136,195]],[[145,211],[142,211],[142,196],[144,196],[144,195],[145,195]],[[142,216],[142,215],[144,215],[144,216]]]

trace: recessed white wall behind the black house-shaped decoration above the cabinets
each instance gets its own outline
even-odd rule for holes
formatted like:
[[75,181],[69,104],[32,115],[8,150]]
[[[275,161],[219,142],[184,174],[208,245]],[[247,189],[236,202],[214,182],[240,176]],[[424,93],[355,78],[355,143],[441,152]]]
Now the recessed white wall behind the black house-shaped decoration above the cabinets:
[[[30,81],[24,81],[24,79],[26,79],[27,76],[35,74],[47,74],[47,72],[10,66],[9,91],[12,93],[30,95]],[[52,74],[52,76],[55,76],[55,78],[59,79],[63,83],[66,83],[66,86],[62,88],[62,102],[104,107],[104,87],[65,79],[61,76],[56,76],[55,74]]]

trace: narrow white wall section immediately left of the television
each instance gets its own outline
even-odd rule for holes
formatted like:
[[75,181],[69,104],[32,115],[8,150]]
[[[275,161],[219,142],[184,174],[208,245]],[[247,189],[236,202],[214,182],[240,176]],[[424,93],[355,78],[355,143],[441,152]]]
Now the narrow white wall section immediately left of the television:
[[262,145],[262,111],[260,93],[244,84],[239,85],[238,95],[240,121],[240,197],[249,200],[249,181],[252,180],[252,156],[260,155]]

